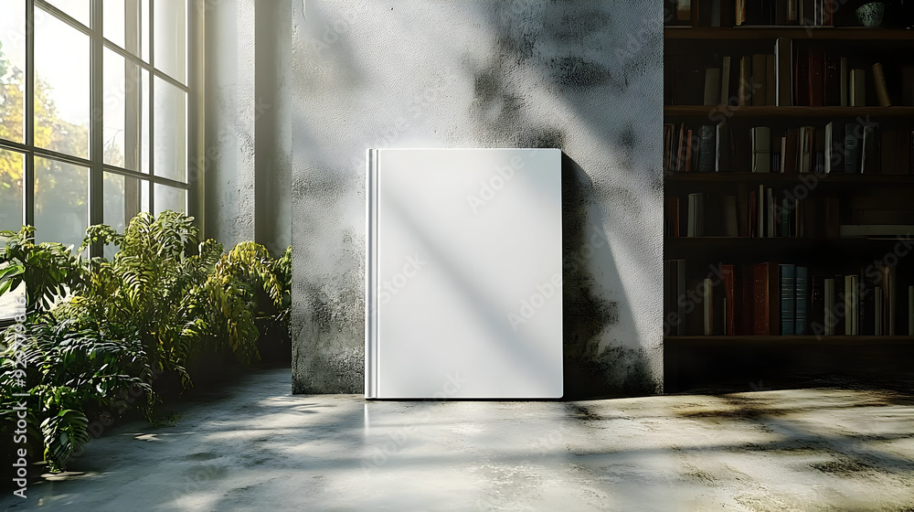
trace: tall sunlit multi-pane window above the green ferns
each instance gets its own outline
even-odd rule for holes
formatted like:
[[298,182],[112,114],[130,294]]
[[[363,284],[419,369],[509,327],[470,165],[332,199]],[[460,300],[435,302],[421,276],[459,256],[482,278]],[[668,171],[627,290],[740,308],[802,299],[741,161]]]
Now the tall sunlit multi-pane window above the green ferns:
[[0,229],[79,246],[90,224],[197,213],[194,2],[0,0]]

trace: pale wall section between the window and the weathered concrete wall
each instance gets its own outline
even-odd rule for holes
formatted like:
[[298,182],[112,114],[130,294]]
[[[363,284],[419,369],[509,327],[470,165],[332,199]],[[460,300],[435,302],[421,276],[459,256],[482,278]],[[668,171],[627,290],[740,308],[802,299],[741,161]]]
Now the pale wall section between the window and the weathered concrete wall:
[[206,234],[292,240],[290,0],[207,2]]

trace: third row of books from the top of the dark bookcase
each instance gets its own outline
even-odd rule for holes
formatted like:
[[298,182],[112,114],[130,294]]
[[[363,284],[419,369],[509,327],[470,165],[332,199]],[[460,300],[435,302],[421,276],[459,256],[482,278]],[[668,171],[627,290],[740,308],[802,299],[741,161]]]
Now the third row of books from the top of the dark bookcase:
[[914,130],[829,122],[748,135],[734,136],[728,123],[665,123],[664,172],[914,174]]

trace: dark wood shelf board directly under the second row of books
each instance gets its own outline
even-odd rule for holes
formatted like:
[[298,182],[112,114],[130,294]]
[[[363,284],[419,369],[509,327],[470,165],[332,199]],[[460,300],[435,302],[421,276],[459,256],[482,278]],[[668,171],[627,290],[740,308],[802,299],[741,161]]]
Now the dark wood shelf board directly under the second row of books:
[[723,121],[729,117],[903,117],[914,118],[914,107],[752,107],[717,105],[664,105],[664,117],[707,117]]

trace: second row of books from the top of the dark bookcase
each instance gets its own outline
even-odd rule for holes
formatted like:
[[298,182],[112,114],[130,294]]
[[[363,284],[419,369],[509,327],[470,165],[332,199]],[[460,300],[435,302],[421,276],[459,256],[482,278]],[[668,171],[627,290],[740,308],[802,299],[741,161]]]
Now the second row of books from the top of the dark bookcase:
[[769,54],[717,57],[709,66],[677,56],[666,64],[668,105],[914,106],[914,66],[891,69],[898,80],[887,82],[882,62],[794,45],[790,37],[778,38]]

